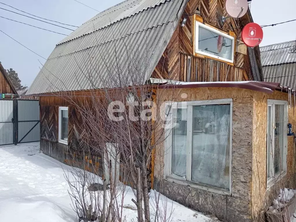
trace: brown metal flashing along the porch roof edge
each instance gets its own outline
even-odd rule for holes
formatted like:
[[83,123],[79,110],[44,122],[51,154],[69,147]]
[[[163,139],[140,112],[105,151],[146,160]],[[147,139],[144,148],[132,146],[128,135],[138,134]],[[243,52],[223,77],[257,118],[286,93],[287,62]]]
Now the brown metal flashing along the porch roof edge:
[[242,81],[242,82],[181,82],[177,84],[160,85],[158,88],[166,89],[181,89],[181,88],[202,88],[202,87],[224,87],[224,88],[241,88],[249,89],[263,93],[273,93],[279,87],[276,82],[257,82],[257,81]]

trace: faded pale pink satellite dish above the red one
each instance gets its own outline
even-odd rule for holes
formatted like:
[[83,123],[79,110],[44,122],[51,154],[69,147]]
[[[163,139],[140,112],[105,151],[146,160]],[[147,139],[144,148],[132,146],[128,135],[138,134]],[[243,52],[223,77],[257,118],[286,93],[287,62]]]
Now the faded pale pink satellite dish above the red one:
[[243,17],[248,11],[248,0],[226,0],[225,8],[231,17]]

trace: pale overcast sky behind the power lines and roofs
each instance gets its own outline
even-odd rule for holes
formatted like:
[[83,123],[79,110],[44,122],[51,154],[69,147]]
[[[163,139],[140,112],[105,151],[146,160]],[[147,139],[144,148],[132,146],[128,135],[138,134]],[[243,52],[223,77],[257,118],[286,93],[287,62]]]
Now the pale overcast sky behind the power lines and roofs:
[[[102,11],[121,2],[121,0],[80,1],[98,11]],[[83,22],[89,20],[98,13],[94,9],[90,9],[82,4],[79,4],[75,0],[0,0],[0,2],[39,17],[75,26],[80,26]],[[283,4],[279,4],[279,2],[282,2]],[[0,4],[0,7],[17,12],[15,9],[3,4]],[[295,7],[295,0],[252,0],[251,12],[254,22],[259,25],[270,25],[273,23],[296,19]],[[72,32],[71,30],[66,30],[44,22],[32,20],[3,9],[0,9],[0,16],[67,35]],[[74,27],[67,27],[75,29]],[[40,30],[35,27],[6,20],[1,17],[0,30],[44,58],[47,58],[54,49],[55,44],[65,37],[64,35]],[[274,27],[265,27],[263,28],[263,33],[264,37],[260,46],[296,40],[296,21],[276,25]],[[20,79],[22,80],[22,85],[30,86],[38,74],[39,67],[41,67],[38,59],[41,63],[45,62],[44,59],[33,52],[30,52],[28,49],[0,32],[0,61],[5,69],[12,68],[18,73]]]

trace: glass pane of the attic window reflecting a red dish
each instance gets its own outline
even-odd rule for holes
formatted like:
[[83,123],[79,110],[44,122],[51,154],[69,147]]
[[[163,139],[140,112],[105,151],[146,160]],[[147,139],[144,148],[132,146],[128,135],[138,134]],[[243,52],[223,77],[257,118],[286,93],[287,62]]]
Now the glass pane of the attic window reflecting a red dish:
[[232,61],[232,41],[231,38],[219,35],[217,32],[198,27],[198,51]]

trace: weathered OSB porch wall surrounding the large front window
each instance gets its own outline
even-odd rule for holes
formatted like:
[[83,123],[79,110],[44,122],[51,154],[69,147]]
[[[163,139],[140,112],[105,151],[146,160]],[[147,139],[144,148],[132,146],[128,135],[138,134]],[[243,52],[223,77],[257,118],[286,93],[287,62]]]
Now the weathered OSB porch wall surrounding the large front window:
[[[157,103],[233,99],[232,195],[212,193],[163,180],[164,144],[155,150],[155,187],[169,198],[225,221],[251,220],[253,91],[237,88],[165,89]],[[186,93],[187,98],[184,99]],[[182,97],[181,97],[182,95]],[[211,200],[209,200],[211,199]]]

